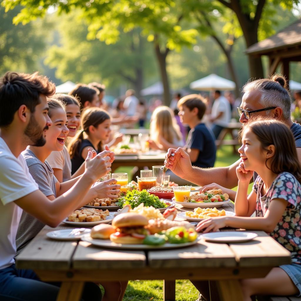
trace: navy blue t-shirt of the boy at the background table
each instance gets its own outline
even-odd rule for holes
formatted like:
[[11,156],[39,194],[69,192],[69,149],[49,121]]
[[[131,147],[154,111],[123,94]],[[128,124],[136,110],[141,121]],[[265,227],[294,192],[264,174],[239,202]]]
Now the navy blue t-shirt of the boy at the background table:
[[187,148],[198,149],[199,155],[192,165],[198,167],[213,167],[216,158],[216,146],[213,133],[204,123],[199,123],[188,133],[186,141]]

